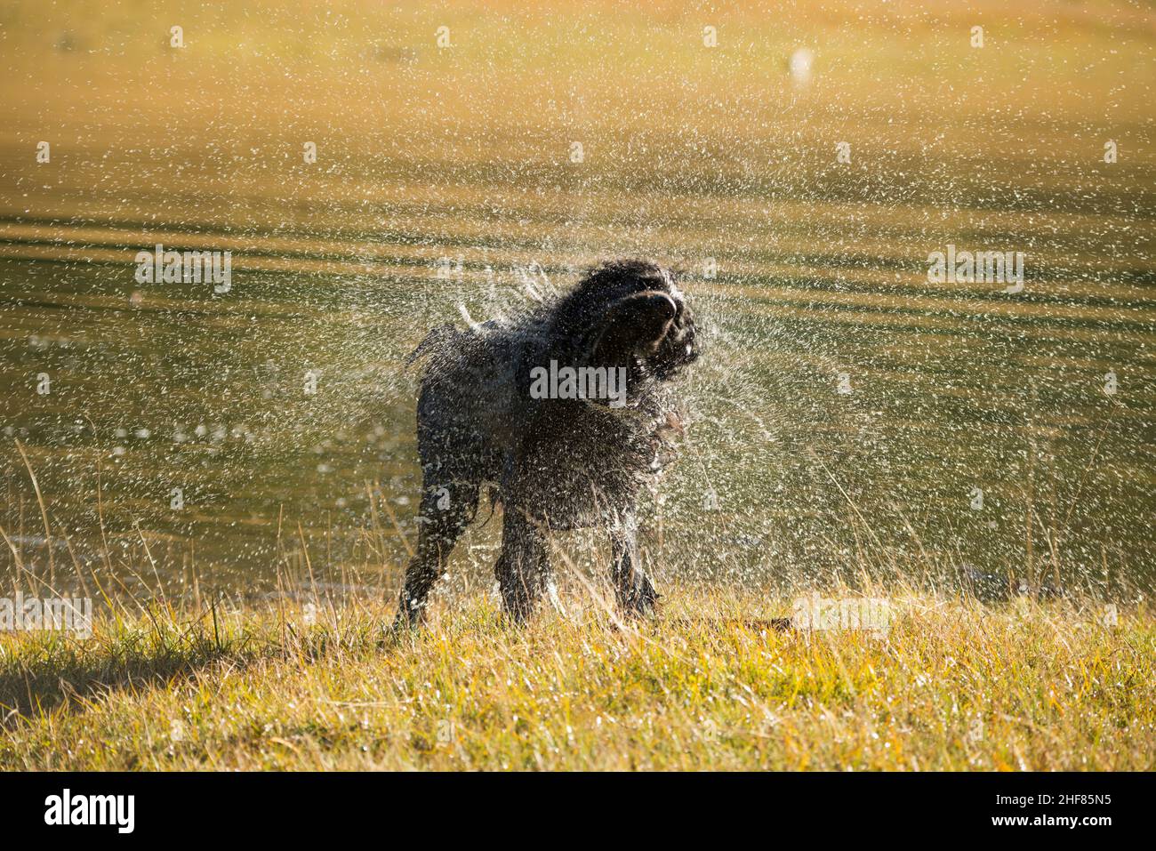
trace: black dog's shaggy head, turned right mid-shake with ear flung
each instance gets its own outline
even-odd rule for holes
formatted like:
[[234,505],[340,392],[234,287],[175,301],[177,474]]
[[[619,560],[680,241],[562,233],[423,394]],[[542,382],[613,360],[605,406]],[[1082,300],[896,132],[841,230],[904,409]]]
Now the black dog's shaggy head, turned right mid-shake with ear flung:
[[593,268],[563,296],[555,333],[583,365],[665,380],[698,357],[695,318],[669,269],[650,260]]

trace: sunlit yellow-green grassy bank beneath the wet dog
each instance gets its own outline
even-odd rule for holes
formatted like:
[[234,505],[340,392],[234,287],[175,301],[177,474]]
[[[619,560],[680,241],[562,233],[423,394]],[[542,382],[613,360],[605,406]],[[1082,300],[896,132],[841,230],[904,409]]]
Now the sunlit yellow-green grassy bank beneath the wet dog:
[[1091,600],[906,592],[882,638],[749,617],[790,607],[682,587],[637,627],[587,593],[525,628],[462,598],[400,639],[366,601],[0,634],[0,767],[1154,767],[1148,607],[1110,627]]

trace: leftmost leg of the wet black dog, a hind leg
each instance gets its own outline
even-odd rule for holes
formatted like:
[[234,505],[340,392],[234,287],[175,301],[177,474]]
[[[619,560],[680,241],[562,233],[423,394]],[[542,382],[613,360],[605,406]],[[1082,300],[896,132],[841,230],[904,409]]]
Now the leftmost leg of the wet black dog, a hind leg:
[[417,552],[406,568],[394,628],[415,627],[424,619],[430,590],[445,574],[453,545],[477,509],[477,489],[473,482],[424,484]]

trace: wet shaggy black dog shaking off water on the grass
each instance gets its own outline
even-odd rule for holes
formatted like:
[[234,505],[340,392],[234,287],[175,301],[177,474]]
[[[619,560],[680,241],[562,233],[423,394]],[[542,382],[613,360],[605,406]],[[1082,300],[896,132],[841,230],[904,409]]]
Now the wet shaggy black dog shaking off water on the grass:
[[503,504],[495,572],[510,616],[527,617],[550,585],[548,531],[595,524],[610,532],[620,604],[650,613],[658,594],[638,563],[635,505],[681,429],[669,379],[698,357],[674,275],[607,262],[513,321],[435,328],[409,362],[420,357],[420,536],[398,624],[421,620],[483,484]]

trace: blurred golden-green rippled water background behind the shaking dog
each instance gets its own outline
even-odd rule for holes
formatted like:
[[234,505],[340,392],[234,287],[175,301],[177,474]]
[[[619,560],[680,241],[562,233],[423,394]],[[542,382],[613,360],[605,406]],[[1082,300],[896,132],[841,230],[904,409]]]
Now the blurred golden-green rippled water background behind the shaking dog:
[[[1148,593],[1154,40],[1106,0],[9,0],[0,580],[392,597],[405,355],[642,254],[710,347],[660,582]],[[230,291],[139,283],[158,243]],[[949,244],[1024,290],[928,282]]]

